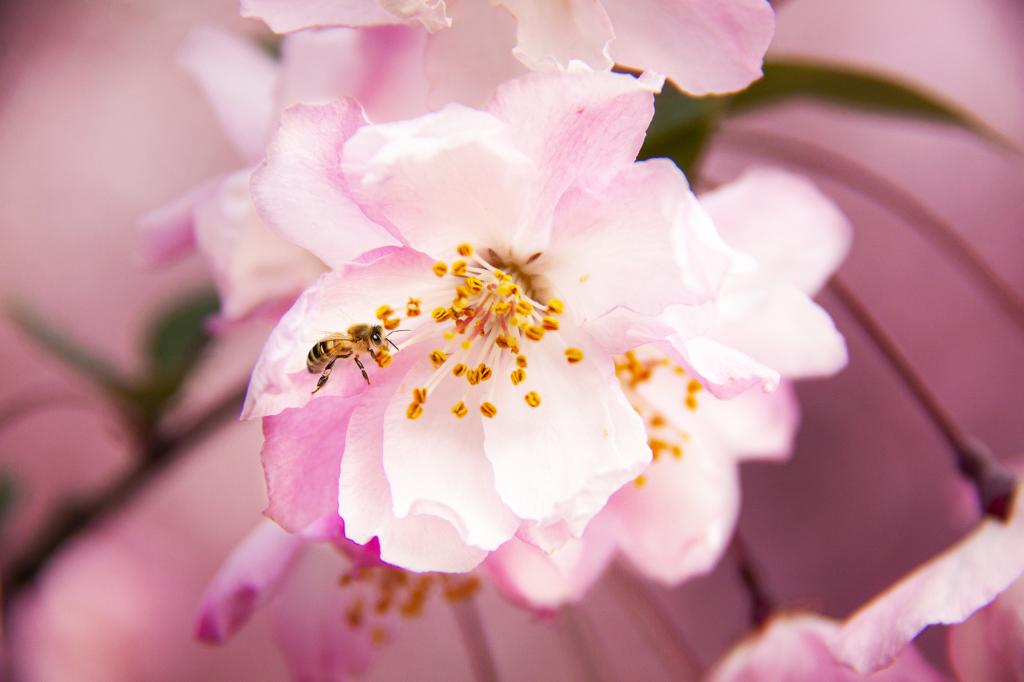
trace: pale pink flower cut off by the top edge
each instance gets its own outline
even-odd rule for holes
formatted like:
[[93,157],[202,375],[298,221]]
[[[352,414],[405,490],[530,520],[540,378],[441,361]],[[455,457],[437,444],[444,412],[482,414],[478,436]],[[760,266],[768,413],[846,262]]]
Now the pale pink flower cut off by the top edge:
[[761,75],[774,32],[765,0],[242,0],[279,33],[408,24],[427,37],[435,101],[480,104],[525,70],[614,63],[666,74],[693,94],[740,90]]

